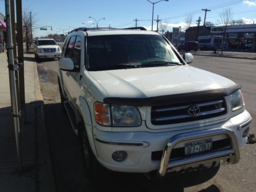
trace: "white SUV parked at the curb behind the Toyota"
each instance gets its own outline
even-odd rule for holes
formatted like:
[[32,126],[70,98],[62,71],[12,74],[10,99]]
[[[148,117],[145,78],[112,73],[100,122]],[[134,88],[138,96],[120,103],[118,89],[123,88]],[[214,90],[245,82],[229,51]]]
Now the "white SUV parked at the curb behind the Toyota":
[[40,58],[59,58],[61,55],[60,47],[57,42],[51,38],[39,38],[34,46],[35,59]]

